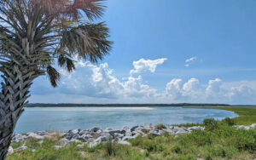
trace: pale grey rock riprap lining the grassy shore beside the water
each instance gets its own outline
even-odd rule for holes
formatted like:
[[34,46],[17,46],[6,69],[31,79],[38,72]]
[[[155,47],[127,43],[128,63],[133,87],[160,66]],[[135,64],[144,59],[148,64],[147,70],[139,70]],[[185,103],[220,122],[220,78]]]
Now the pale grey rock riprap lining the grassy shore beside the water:
[[[237,129],[254,129],[256,124],[251,126],[235,126]],[[27,149],[25,141],[39,140],[38,143],[42,144],[46,138],[61,137],[60,145],[55,146],[55,150],[61,149],[61,147],[69,146],[73,142],[80,142],[77,146],[78,148],[83,148],[85,144],[89,147],[96,146],[102,142],[107,142],[109,140],[114,140],[122,145],[131,145],[128,140],[136,139],[137,136],[148,136],[152,134],[153,136],[160,136],[161,134],[172,134],[174,136],[189,134],[193,130],[203,130],[204,127],[193,126],[193,127],[177,127],[177,126],[135,126],[131,129],[129,127],[123,127],[122,129],[73,129],[68,132],[35,132],[27,134],[14,134],[12,143],[23,143],[22,146],[13,149],[9,148],[9,154],[15,151],[24,151]]]

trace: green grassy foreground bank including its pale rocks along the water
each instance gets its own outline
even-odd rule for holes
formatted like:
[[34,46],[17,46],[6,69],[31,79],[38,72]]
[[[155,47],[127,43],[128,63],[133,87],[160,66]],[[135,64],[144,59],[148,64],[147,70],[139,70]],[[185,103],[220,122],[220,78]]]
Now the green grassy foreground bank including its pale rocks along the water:
[[159,124],[131,129],[15,134],[7,159],[256,158],[256,108],[218,109],[235,111],[239,117],[222,121],[206,119],[194,126]]

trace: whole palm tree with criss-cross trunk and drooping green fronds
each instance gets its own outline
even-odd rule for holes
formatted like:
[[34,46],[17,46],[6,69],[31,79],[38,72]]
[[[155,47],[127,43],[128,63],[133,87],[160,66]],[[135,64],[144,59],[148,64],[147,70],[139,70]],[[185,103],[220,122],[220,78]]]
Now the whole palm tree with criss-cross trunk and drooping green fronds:
[[53,87],[61,78],[55,63],[75,70],[74,60],[97,62],[108,54],[103,0],[0,1],[0,160],[30,96],[32,81],[47,75]]

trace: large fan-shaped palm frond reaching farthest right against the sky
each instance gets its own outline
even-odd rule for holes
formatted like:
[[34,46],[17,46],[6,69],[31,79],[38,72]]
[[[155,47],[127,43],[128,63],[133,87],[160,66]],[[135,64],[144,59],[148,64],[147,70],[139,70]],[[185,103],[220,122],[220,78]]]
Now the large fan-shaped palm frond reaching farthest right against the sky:
[[112,42],[108,41],[108,27],[104,22],[85,24],[61,31],[61,48],[71,54],[78,54],[80,59],[91,62],[102,60],[103,55],[111,50]]

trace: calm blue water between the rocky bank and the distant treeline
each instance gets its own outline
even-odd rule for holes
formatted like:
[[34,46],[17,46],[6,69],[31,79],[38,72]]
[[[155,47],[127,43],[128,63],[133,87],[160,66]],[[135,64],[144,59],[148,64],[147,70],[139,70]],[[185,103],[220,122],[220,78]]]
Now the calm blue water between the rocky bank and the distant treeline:
[[26,108],[15,133],[44,130],[121,129],[150,123],[201,123],[205,118],[237,117],[232,111],[182,107],[34,107]]

